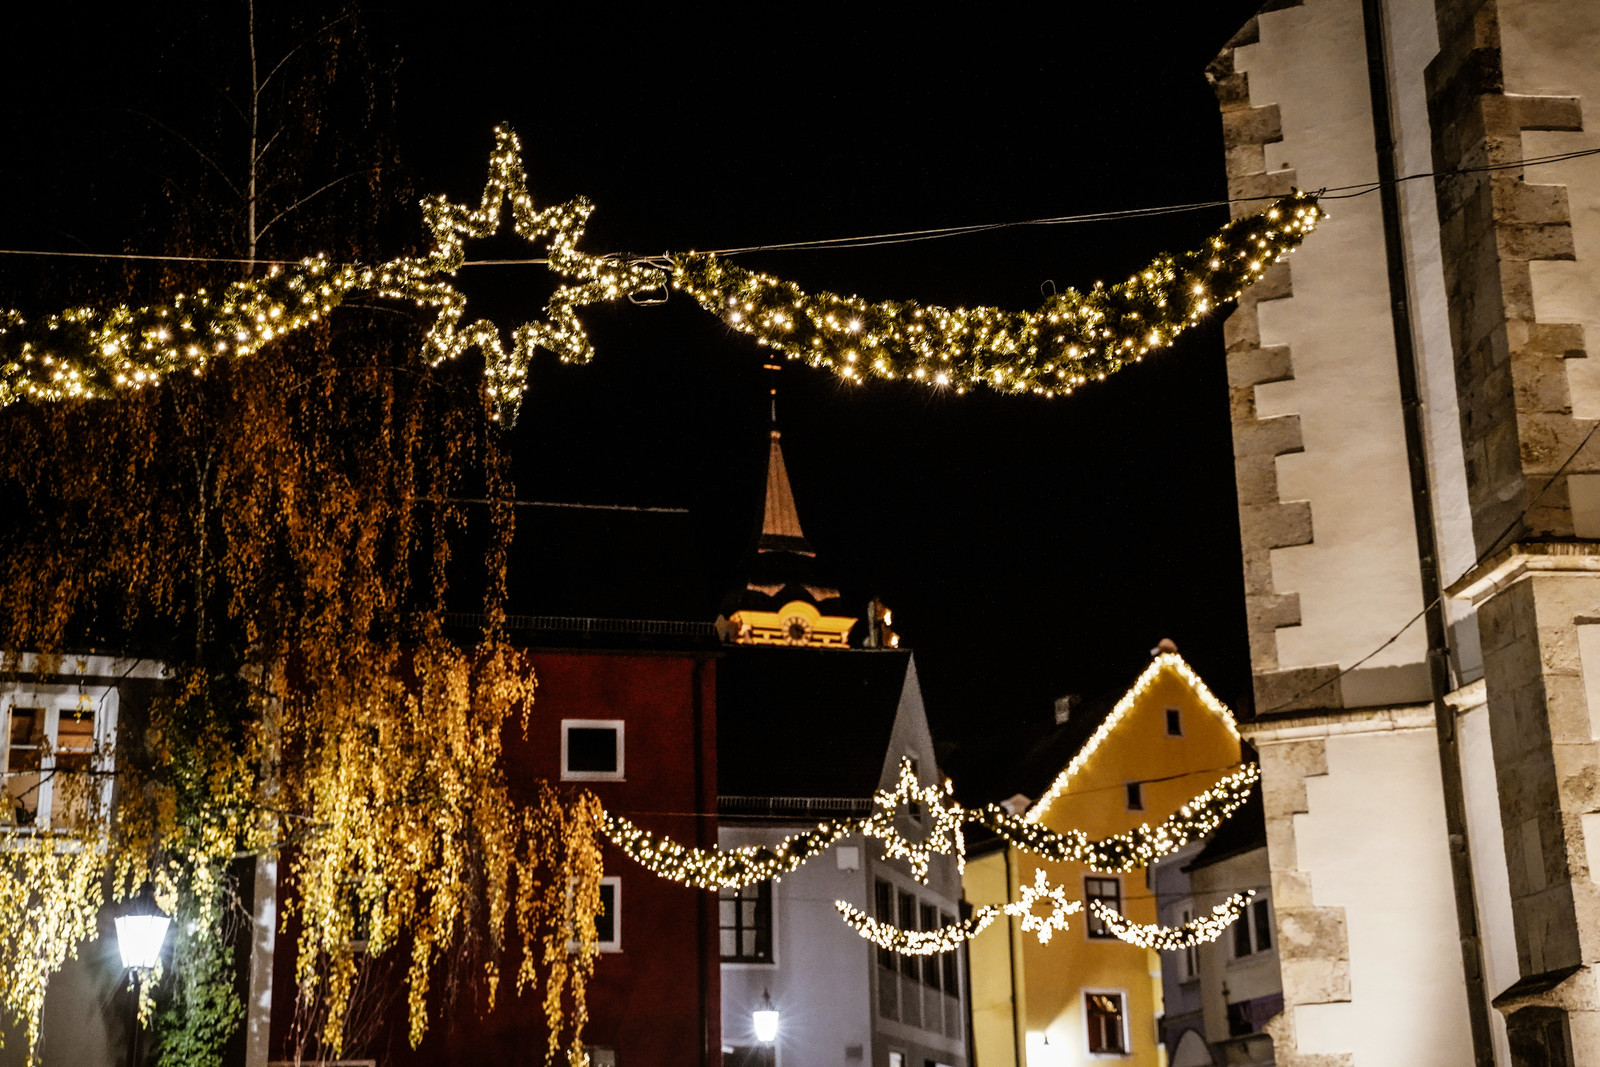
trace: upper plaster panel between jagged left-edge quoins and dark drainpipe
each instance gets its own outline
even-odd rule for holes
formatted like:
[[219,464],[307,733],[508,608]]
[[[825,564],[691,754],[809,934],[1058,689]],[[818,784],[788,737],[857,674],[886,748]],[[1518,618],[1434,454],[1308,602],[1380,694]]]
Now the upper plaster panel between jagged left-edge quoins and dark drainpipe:
[[[1235,53],[1251,104],[1277,104],[1269,160],[1304,189],[1376,178],[1360,0],[1309,0],[1259,16]],[[1272,553],[1301,625],[1278,630],[1278,664],[1350,665],[1422,606],[1376,197],[1334,200],[1291,259],[1294,296],[1261,304],[1261,342],[1290,346],[1294,379],[1256,387],[1262,418],[1299,414],[1304,451],[1278,458],[1285,501],[1310,501],[1314,541]],[[1419,662],[1422,627],[1366,667]]]

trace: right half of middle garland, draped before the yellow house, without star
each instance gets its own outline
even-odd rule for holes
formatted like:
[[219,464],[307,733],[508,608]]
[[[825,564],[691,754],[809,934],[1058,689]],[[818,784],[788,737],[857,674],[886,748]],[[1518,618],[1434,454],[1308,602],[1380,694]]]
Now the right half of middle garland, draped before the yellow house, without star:
[[994,830],[1011,845],[1045,859],[1070,861],[1094,870],[1125,873],[1149,867],[1155,859],[1176,853],[1189,841],[1222,825],[1222,821],[1245,803],[1250,789],[1258,781],[1261,781],[1261,768],[1246,763],[1211,789],[1190,798],[1158,827],[1141,825],[1099,841],[1091,841],[1083,830],[1058,833],[1040,822],[1010,814],[995,805],[968,811],[966,817]]

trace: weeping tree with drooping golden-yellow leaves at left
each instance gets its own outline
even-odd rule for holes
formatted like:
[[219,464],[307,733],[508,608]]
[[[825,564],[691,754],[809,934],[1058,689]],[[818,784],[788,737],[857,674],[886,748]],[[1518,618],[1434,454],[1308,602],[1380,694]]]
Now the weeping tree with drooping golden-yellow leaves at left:
[[[389,152],[333,136],[328,99],[346,93],[341,107],[371,117],[381,64],[352,10],[272,27],[250,14],[250,70],[234,86],[246,131],[216,126],[224,147],[248,141],[246,165],[194,182],[200,203],[173,210],[165,251],[254,259],[293,240],[354,258],[381,224]],[[282,130],[272,115],[288,117]],[[139,296],[213,278],[166,267],[125,285]],[[102,905],[150,888],[178,920],[171,965],[141,995],[160,1062],[219,1064],[243,1021],[240,888],[264,857],[286,872],[299,929],[299,1054],[370,1037],[360,990],[389,961],[413,1045],[430,1005],[472,982],[486,1005],[502,985],[534,990],[550,1056],[576,1048],[598,808],[547,785],[514,793],[501,765],[502,733],[534,699],[502,625],[509,506],[472,517],[486,526],[485,622],[446,633],[469,520],[453,501],[512,491],[491,398],[419,363],[426,326],[347,309],[272,358],[0,411],[0,669],[21,670],[22,651],[88,649],[166,669],[147,712],[120,723],[112,805],[90,771],[61,769],[75,816],[0,841],[0,1021],[29,1059],[51,974]]]

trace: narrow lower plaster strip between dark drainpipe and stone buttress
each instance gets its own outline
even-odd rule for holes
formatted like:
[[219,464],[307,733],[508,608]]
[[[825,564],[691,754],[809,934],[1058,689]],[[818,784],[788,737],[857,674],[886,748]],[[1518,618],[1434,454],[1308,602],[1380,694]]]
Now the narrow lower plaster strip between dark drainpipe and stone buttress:
[[[1467,793],[1472,888],[1478,902],[1478,937],[1483,942],[1483,985],[1493,1000],[1522,973],[1517,969],[1517,931],[1512,926],[1510,875],[1506,872],[1506,838],[1501,835],[1488,705],[1478,704],[1461,715],[1456,728],[1461,737],[1461,781]],[[1491,1009],[1490,1027],[1494,1032],[1494,1062],[1510,1064],[1506,1016]]]

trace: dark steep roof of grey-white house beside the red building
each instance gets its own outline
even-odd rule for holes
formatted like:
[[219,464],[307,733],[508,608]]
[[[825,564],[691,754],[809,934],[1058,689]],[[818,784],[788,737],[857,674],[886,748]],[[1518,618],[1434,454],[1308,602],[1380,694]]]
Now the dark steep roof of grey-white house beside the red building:
[[717,664],[717,792],[869,798],[909,653],[734,646]]

